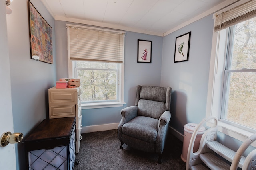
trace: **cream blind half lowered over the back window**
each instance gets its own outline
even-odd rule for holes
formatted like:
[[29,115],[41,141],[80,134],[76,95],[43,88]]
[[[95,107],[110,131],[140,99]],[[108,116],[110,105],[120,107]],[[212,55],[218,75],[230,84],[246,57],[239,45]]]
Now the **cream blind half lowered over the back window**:
[[125,32],[67,25],[71,61],[123,63]]

